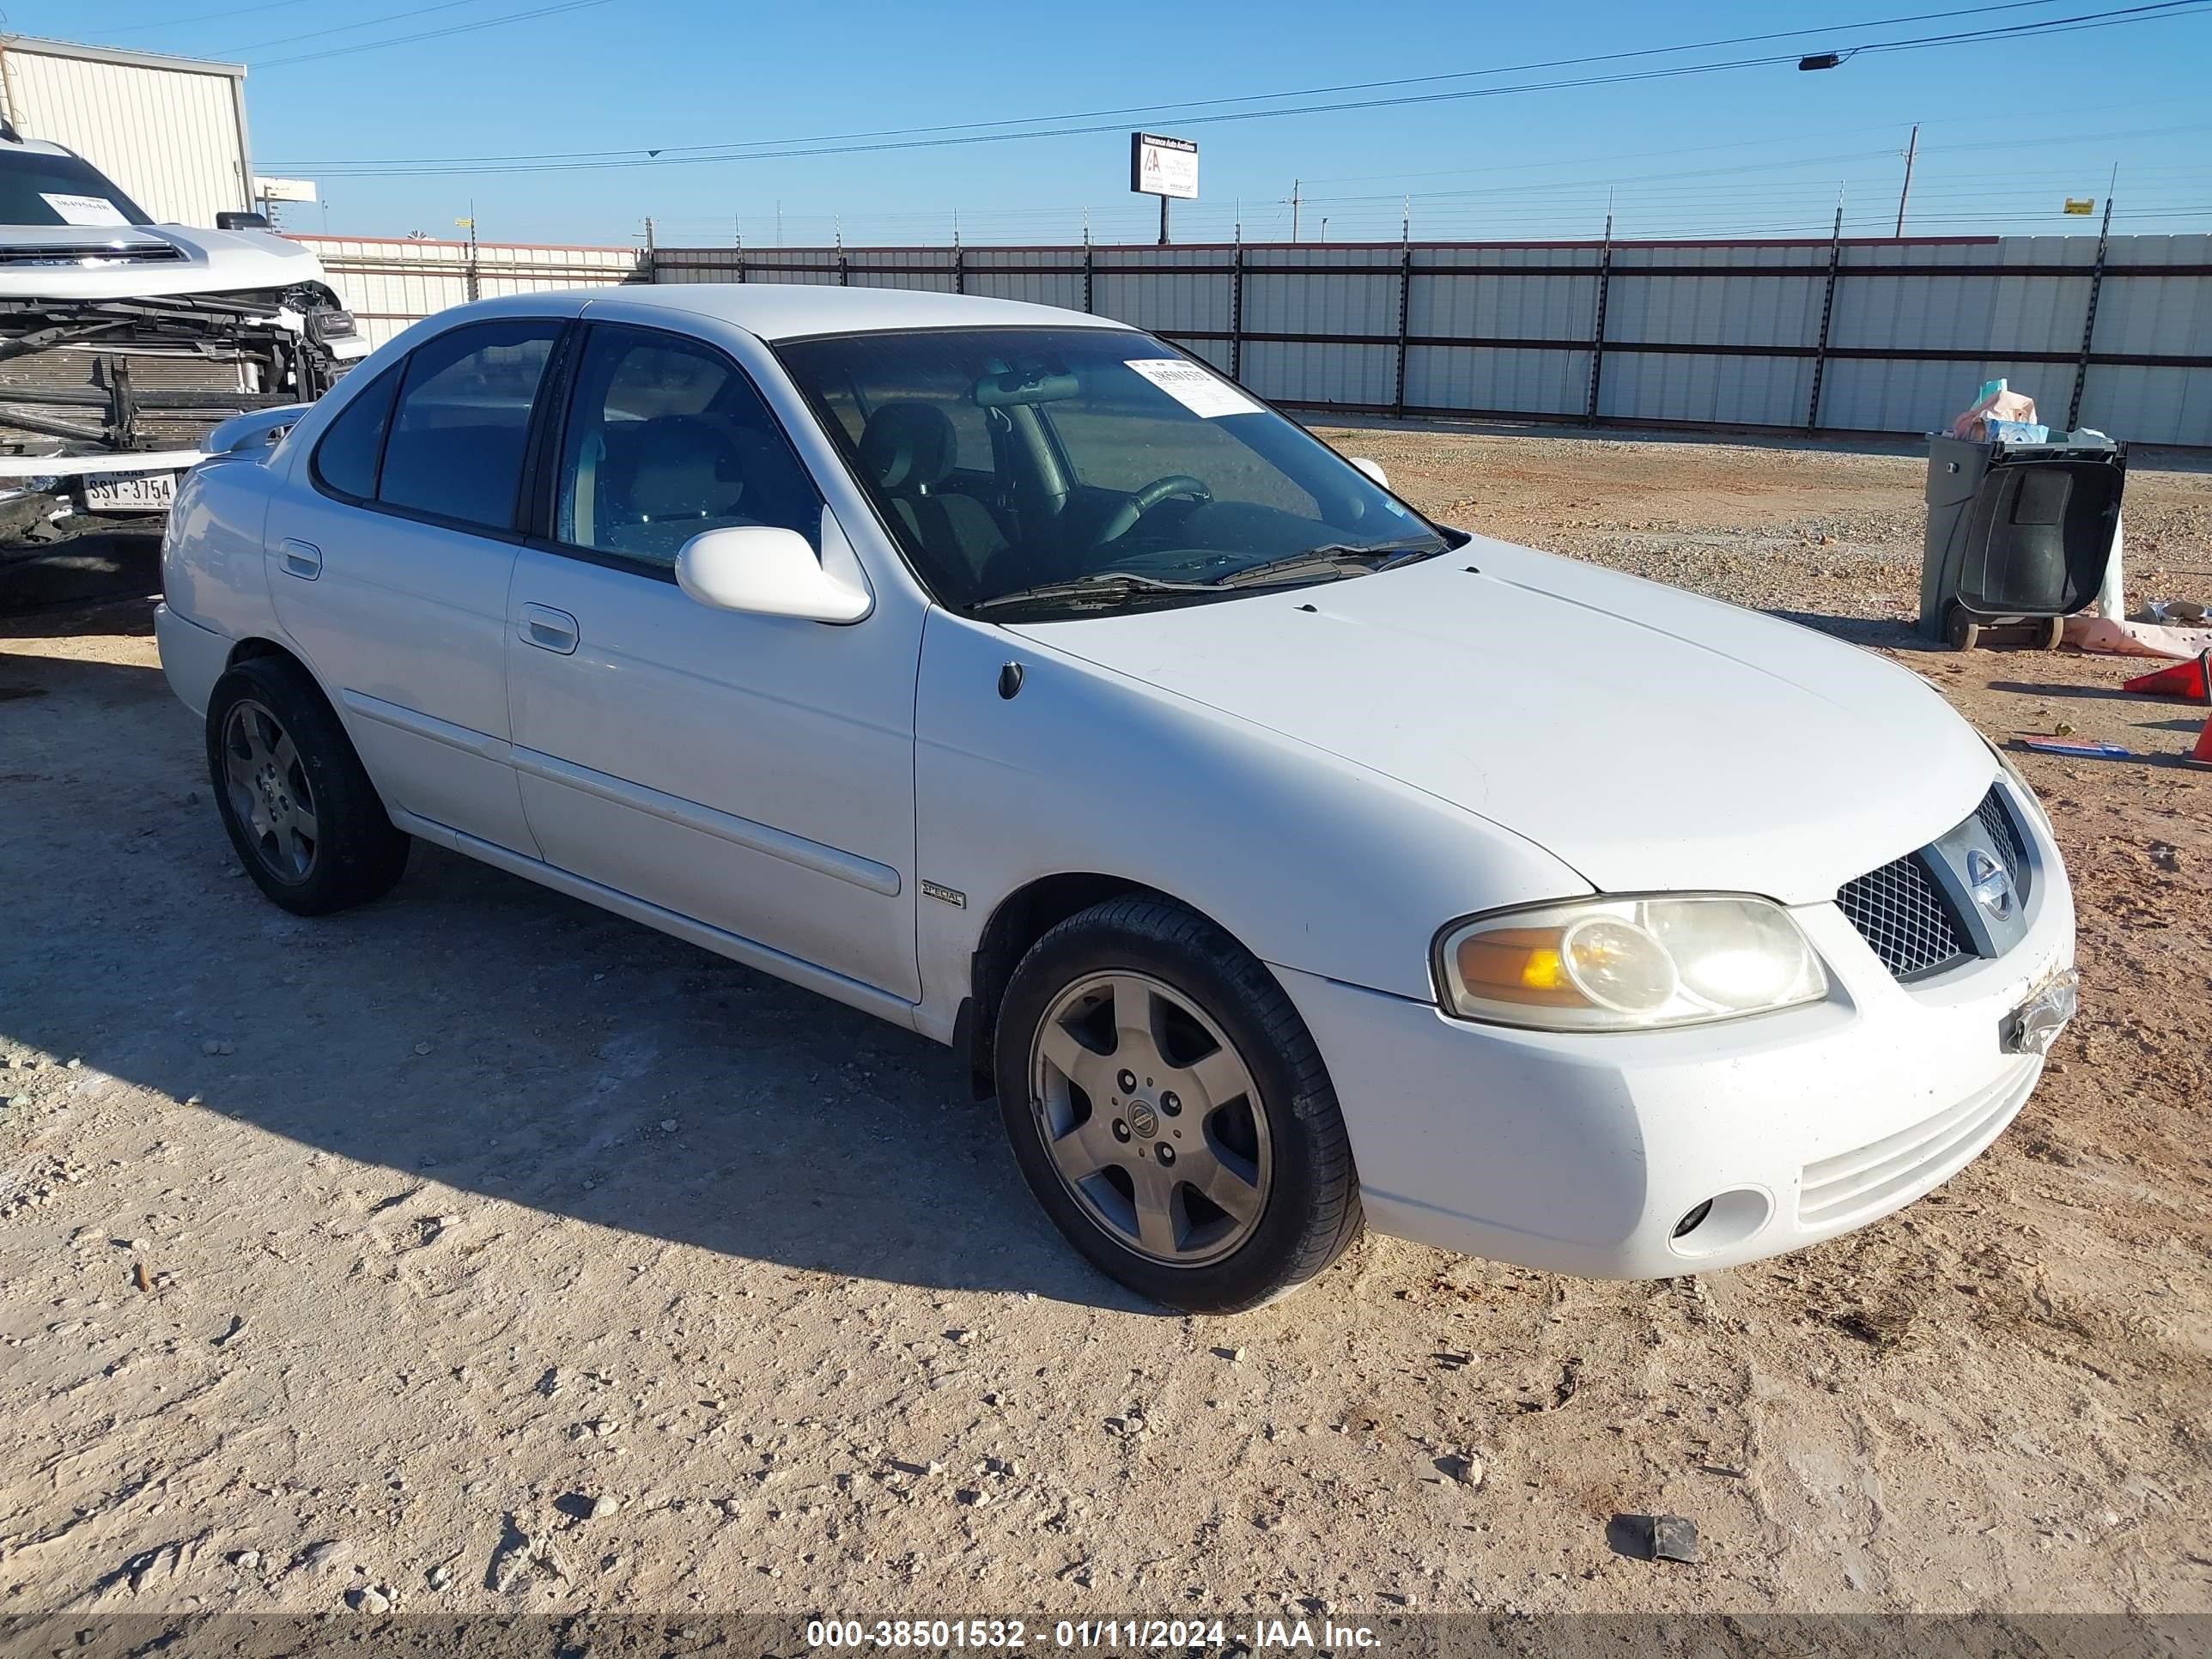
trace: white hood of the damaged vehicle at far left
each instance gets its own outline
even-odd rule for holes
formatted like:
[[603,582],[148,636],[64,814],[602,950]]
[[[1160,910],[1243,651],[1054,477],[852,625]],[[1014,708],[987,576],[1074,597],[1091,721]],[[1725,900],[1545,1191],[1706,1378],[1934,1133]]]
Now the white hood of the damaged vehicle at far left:
[[164,299],[316,281],[323,263],[265,230],[0,226],[0,299]]

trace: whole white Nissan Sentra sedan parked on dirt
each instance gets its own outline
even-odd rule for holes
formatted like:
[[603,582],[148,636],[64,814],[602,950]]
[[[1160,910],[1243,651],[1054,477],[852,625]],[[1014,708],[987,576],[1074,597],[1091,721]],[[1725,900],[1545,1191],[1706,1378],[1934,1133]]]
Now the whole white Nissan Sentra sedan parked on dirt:
[[522,294],[254,420],[159,641],[261,891],[422,838],[949,1042],[1175,1307],[1363,1225],[1599,1276],[1847,1232],[2075,1006],[2051,825],[1916,675],[1431,524],[1099,316]]

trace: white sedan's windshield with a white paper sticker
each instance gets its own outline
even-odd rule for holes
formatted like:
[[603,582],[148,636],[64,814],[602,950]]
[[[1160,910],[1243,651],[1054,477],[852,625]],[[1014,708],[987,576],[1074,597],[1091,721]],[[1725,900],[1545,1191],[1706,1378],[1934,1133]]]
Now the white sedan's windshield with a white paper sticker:
[[1192,604],[1449,544],[1303,427],[1133,330],[847,334],[779,356],[953,608]]

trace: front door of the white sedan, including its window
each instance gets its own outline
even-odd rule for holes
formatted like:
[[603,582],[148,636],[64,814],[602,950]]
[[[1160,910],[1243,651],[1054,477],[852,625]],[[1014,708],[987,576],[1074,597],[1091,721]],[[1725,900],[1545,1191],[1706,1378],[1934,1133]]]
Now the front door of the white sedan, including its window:
[[515,562],[513,763],[546,863],[907,1002],[920,626],[712,611],[692,535],[836,520],[745,372],[659,330],[593,325]]

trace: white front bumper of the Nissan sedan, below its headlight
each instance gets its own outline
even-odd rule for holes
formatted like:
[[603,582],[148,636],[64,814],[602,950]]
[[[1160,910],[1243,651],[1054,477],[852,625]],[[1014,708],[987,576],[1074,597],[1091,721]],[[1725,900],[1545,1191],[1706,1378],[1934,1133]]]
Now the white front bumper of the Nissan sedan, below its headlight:
[[1809,905],[1796,916],[1834,991],[1754,1020],[1509,1031],[1276,973],[1336,1082],[1378,1232],[1595,1279],[1728,1267],[1900,1210],[2035,1088],[2042,1060],[2006,1051],[2006,1024],[2073,967],[2075,920],[2042,825],[2026,841],[2026,931],[2002,958],[1900,984],[1843,911]]

